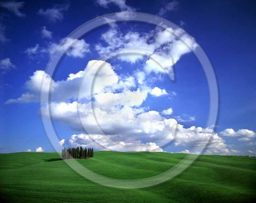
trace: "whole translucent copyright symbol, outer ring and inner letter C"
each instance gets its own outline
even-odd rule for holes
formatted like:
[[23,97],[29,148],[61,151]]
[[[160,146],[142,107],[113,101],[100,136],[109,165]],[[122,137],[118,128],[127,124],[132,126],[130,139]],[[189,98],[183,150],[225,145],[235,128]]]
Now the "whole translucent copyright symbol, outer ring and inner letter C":
[[[129,15],[123,15],[121,13],[112,13],[112,14],[107,14],[103,15],[100,17],[97,17],[95,19],[92,19],[91,21],[86,22],[85,24],[81,25],[78,27],[76,30],[74,30],[70,35],[67,37],[73,38],[73,39],[79,39],[80,37],[86,35],[90,31],[97,29],[100,26],[106,25],[106,24],[114,24],[116,22],[123,22],[123,21],[131,21],[131,22],[141,22],[141,23],[149,23],[155,26],[159,26],[162,29],[166,29],[166,27],[170,27],[173,30],[178,29],[179,27],[156,15],[151,15],[147,13],[140,13],[140,12],[128,12]],[[171,31],[170,31],[171,32]],[[172,33],[175,35],[175,33]],[[188,35],[188,34],[187,34]],[[176,37],[178,37],[176,35]],[[182,41],[182,39],[180,39]],[[217,113],[218,113],[218,86],[217,86],[217,80],[216,76],[214,73],[214,69],[210,63],[210,60],[208,59],[207,55],[205,54],[204,50],[197,44],[197,47],[191,47],[190,44],[187,44],[186,42],[183,42],[188,46],[188,48],[193,51],[195,56],[197,57],[198,61],[200,62],[204,72],[205,76],[208,82],[208,89],[209,89],[209,113],[208,113],[208,119],[206,122],[206,128],[210,128],[212,126],[215,126],[216,119],[217,119]],[[61,45],[60,45],[61,46]],[[68,48],[67,48],[68,50]],[[57,50],[49,60],[49,63],[47,64],[46,67],[46,74],[52,77],[54,74],[59,62],[61,61],[62,57],[66,54],[67,50]],[[97,63],[92,64],[88,69],[85,71],[84,78],[81,82],[80,88],[84,87],[85,85],[88,86],[88,80],[87,74],[90,72],[91,69],[96,70],[95,75],[93,77],[93,80],[90,81],[91,83],[89,84],[89,88],[91,90],[91,97],[93,95],[93,88],[95,85],[95,80],[97,79],[97,73],[99,73],[102,65],[104,64],[104,61],[121,56],[121,55],[126,55],[126,54],[140,54],[140,55],[147,55],[147,53],[153,53],[154,50],[149,50],[149,49],[143,49],[140,47],[132,47],[132,48],[123,48],[123,49],[118,49],[114,50],[112,52],[109,52],[100,58],[98,58]],[[161,64],[161,61],[157,60],[157,58],[154,58],[152,55],[148,55],[150,59],[154,60],[156,64],[158,64],[161,68],[164,69],[164,66]],[[173,60],[173,58],[170,58],[170,60]],[[102,62],[100,62],[102,61]],[[169,74],[169,71],[166,71],[168,73],[168,76],[171,80],[174,80],[174,74]],[[51,82],[52,80],[47,80],[46,75],[43,77],[41,88],[43,87],[44,90],[47,89],[48,94],[45,94],[41,91],[40,93],[40,105],[41,107],[43,106],[43,112],[44,115],[48,116],[42,116],[42,122],[43,126],[45,128],[46,134],[53,146],[53,148],[56,151],[59,151],[59,137],[56,134],[56,131],[53,127],[52,121],[51,121],[51,112],[50,112],[50,90],[51,90]],[[80,94],[80,91],[78,92],[78,101],[82,99],[82,95]],[[79,103],[79,102],[78,102]],[[79,111],[79,104],[77,106],[78,108],[78,115],[80,116],[80,111]],[[41,108],[42,109],[42,108]],[[93,105],[91,105],[92,112],[95,111],[95,108]],[[97,130],[104,135],[104,129],[100,126],[100,123],[98,122],[97,115],[93,113],[93,122],[97,123]],[[81,120],[80,120],[81,121]],[[81,125],[84,127],[85,131],[90,134],[90,131],[86,128],[85,123],[81,121]],[[173,139],[175,139],[176,131],[177,131],[177,125],[172,126],[173,131],[170,132],[172,136],[165,136],[160,138],[159,140],[156,141],[157,146],[163,147],[165,145],[168,145],[170,142],[172,142]],[[214,133],[214,131],[213,131]],[[172,137],[172,139],[170,139]],[[106,139],[110,139],[109,137],[106,136]],[[209,137],[210,139],[210,137]],[[208,139],[208,142],[209,142]],[[109,140],[110,142],[113,140]],[[207,145],[207,142],[204,139],[204,142],[198,142],[197,145],[194,147],[192,150],[193,152],[199,152],[201,153],[204,148]],[[96,140],[95,140],[96,142]],[[101,143],[97,143],[98,145],[101,145]],[[102,145],[101,145],[102,146]],[[102,146],[104,147],[104,146]],[[114,187],[114,188],[124,188],[124,189],[134,189],[134,188],[145,188],[145,187],[150,187],[156,184],[163,183],[167,180],[170,180],[171,178],[177,176],[179,173],[184,171],[187,167],[193,163],[198,155],[196,154],[188,154],[181,162],[179,162],[175,167],[167,170],[164,173],[161,173],[157,176],[146,178],[146,179],[139,179],[139,180],[119,180],[119,179],[112,179],[109,177],[101,176],[100,174],[97,174],[89,169],[87,169],[85,166],[81,165],[78,161],[68,161],[64,160],[69,167],[71,167],[74,171],[76,171],[78,174],[81,176],[85,177],[86,179],[93,181],[95,183],[105,185],[108,187]]]

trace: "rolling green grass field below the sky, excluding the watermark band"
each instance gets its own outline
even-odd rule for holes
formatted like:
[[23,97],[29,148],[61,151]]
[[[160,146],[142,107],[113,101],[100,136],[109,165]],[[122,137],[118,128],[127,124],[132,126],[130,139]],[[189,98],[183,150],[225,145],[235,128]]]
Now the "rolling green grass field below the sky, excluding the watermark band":
[[[116,179],[142,179],[162,173],[185,154],[95,152],[79,160],[90,170]],[[75,160],[68,160],[75,161]],[[1,198],[6,202],[243,202],[256,200],[256,159],[200,156],[165,183],[143,189],[115,189],[88,181],[57,153],[0,154]]]

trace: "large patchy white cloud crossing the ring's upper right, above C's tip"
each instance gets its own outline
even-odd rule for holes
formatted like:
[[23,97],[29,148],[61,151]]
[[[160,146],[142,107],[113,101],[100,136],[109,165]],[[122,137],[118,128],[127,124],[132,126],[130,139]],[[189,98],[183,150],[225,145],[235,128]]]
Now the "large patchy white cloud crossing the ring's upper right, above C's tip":
[[[98,43],[95,49],[100,55],[113,50],[120,54],[118,59],[135,63],[144,59],[144,55],[150,56],[144,65],[145,72],[167,73],[173,78],[173,66],[182,55],[194,50],[198,45],[194,38],[188,36],[183,29],[172,29],[170,27],[161,30],[155,29],[149,33],[128,32],[121,33],[117,28],[112,28],[101,35],[101,40],[106,45]],[[140,49],[140,54],[123,54],[122,49]]]

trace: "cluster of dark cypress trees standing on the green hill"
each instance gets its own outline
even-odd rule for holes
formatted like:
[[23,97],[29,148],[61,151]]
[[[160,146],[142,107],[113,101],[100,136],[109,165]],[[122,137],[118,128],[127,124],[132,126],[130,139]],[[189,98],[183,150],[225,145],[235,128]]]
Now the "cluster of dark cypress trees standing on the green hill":
[[86,159],[93,157],[93,148],[82,147],[62,149],[62,159]]

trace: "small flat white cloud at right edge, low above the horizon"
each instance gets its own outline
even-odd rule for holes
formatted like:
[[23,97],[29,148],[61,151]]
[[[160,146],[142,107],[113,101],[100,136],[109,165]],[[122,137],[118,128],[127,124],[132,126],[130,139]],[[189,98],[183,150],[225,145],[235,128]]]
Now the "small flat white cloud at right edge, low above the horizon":
[[249,141],[252,140],[252,138],[256,137],[256,133],[248,129],[239,129],[238,131],[234,131],[234,129],[232,128],[221,131],[219,135],[226,137],[240,137],[238,139],[240,141]]

